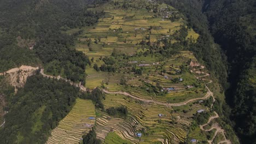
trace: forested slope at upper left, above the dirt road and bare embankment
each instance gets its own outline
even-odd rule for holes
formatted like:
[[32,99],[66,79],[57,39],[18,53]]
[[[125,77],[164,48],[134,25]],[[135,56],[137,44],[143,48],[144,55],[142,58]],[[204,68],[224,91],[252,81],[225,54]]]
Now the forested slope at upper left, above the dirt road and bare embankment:
[[[90,61],[72,48],[78,33],[67,35],[61,28],[93,25],[104,13],[86,9],[101,2],[2,1],[0,71],[21,64],[44,65],[50,74],[85,83],[84,71]],[[33,50],[28,49],[30,46]]]

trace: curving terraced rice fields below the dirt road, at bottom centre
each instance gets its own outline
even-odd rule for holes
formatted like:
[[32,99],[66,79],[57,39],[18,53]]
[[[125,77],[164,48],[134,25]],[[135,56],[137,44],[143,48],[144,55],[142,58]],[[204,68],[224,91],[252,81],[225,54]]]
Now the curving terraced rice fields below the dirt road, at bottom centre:
[[[147,131],[147,134],[141,137],[144,143],[153,141],[178,143],[185,139],[186,129],[190,122],[185,119],[177,119],[172,115],[173,109],[171,108],[156,104],[143,104],[118,94],[107,94],[103,103],[106,109],[113,105],[127,106],[129,116],[126,119],[112,118],[107,115],[97,118],[97,135],[100,135],[101,139],[104,139],[110,131],[114,131],[122,139],[138,143],[139,139],[135,134],[143,128]],[[159,117],[159,114],[163,116]],[[102,133],[104,133],[103,136]]]

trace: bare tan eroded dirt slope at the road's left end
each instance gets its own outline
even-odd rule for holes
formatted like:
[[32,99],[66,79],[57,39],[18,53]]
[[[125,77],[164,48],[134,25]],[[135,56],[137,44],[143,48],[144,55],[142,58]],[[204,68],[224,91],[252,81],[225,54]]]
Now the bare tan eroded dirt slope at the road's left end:
[[33,75],[38,69],[38,67],[35,68],[27,65],[21,65],[20,68],[10,69],[4,73],[1,73],[0,75],[7,77],[7,82],[9,82],[10,85],[15,88],[15,92],[17,92],[18,88],[24,87],[27,77]]

